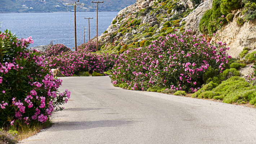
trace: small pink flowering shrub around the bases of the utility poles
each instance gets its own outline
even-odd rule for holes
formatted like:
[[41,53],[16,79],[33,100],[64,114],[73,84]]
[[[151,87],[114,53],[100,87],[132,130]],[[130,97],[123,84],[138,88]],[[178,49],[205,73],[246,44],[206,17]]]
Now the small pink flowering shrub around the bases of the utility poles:
[[[103,45],[103,42],[98,41],[98,50],[100,50],[102,45]],[[78,51],[79,50],[86,50],[86,51],[89,51],[89,52],[96,52],[97,44],[96,44],[96,41],[89,40],[87,43],[81,44],[80,46],[78,46],[77,49],[78,49]]]

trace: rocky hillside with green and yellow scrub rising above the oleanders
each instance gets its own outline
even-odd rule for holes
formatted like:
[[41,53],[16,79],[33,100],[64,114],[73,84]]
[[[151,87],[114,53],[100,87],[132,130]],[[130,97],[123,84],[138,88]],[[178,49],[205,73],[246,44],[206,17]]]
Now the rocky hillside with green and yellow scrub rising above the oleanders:
[[[220,3],[225,3],[225,0]],[[137,0],[135,4],[121,10],[107,30],[99,36],[101,41],[106,42],[101,52],[120,54],[129,48],[147,46],[150,41],[168,33],[181,34],[189,29],[195,36],[207,36],[212,30],[207,25],[211,18],[214,21],[215,17],[221,17],[226,10],[227,13],[223,15],[229,17],[229,21],[225,19],[222,29],[218,30],[220,39],[230,47],[229,55],[242,63],[250,64],[252,60],[246,59],[246,55],[256,53],[256,6],[250,1],[245,2],[246,4],[239,1],[237,3],[239,8],[230,10],[223,8],[222,4],[216,4],[216,0]],[[212,15],[208,16],[208,13]],[[242,24],[238,23],[238,19],[243,18]],[[205,19],[208,20],[203,23],[206,26],[202,24]],[[207,39],[210,41],[211,37]],[[213,37],[212,41],[217,39]],[[240,53],[245,54],[241,57]]]

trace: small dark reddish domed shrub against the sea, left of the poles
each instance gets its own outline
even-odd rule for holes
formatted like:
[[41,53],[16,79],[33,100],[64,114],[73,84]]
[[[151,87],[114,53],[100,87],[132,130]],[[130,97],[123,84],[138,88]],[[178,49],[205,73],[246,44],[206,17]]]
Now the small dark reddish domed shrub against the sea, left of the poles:
[[49,46],[49,48],[43,53],[45,57],[49,57],[52,55],[58,55],[61,53],[65,53],[66,51],[70,51],[70,48],[67,48],[67,46],[63,44],[55,44],[52,47]]

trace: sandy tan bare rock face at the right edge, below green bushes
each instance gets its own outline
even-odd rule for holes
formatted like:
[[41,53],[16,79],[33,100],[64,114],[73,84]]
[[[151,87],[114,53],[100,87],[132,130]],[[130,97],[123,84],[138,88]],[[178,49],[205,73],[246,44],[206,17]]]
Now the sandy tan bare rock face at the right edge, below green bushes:
[[[233,22],[222,27],[223,31],[219,32],[221,41],[228,44],[228,54],[233,58],[239,57],[244,47],[250,49],[248,53],[256,51],[256,19],[239,26],[236,21],[241,16],[242,10],[239,9],[234,14]],[[212,40],[217,41],[215,38]]]

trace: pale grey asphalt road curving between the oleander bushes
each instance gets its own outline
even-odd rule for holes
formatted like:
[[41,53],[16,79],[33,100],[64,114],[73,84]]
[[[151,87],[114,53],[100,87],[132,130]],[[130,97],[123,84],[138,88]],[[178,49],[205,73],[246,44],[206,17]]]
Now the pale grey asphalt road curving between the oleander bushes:
[[54,124],[24,144],[255,144],[256,109],[124,90],[105,77],[63,77]]

